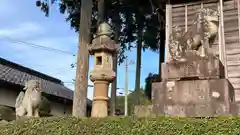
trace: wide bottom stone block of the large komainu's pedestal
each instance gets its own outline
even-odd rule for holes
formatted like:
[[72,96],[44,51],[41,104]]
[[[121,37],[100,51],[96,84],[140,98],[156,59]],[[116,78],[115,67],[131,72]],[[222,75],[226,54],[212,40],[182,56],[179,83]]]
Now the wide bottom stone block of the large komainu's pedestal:
[[152,85],[156,115],[213,117],[236,114],[234,89],[227,79],[164,81]]

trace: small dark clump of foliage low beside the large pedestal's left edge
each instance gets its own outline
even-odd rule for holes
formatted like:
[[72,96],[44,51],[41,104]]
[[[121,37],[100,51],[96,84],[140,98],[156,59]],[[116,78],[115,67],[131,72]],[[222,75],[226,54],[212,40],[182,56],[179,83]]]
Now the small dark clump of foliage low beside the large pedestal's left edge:
[[159,82],[161,80],[160,75],[149,73],[148,76],[145,78],[145,96],[151,100],[152,98],[152,83]]

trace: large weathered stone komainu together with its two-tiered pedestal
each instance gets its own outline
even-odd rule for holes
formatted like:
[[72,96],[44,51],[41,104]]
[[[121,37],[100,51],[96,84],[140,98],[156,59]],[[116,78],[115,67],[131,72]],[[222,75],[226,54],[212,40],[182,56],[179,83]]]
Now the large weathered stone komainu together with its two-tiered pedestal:
[[153,112],[188,117],[233,115],[234,90],[211,48],[218,35],[218,12],[201,8],[193,22],[187,32],[178,26],[173,29],[171,59],[162,64],[163,81],[152,86]]

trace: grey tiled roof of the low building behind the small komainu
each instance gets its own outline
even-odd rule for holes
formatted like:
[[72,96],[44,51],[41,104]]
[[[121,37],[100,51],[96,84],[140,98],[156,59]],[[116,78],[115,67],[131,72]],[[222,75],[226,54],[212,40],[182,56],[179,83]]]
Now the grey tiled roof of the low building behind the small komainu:
[[40,80],[45,93],[73,100],[74,92],[62,85],[60,80],[0,58],[0,80],[24,86],[31,79]]

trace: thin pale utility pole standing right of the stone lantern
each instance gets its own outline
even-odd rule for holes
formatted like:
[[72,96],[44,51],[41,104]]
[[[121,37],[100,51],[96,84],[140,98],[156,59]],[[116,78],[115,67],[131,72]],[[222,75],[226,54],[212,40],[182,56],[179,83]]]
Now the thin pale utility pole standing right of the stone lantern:
[[134,64],[134,61],[128,61],[128,58],[126,58],[125,60],[125,87],[124,87],[124,91],[125,91],[125,105],[124,105],[124,115],[128,116],[128,66]]

